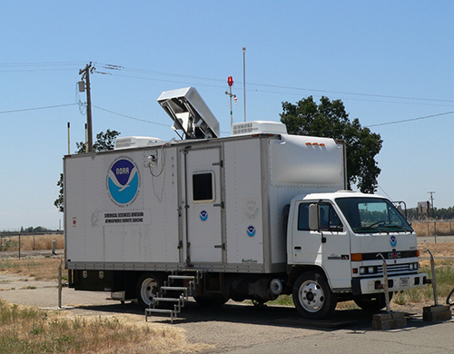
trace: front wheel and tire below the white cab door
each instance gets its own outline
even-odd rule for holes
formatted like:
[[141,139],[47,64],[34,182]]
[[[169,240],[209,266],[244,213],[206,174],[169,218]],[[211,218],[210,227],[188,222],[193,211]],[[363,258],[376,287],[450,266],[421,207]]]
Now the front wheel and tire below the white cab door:
[[321,320],[336,308],[337,298],[325,276],[319,271],[302,273],[293,284],[293,303],[301,316]]

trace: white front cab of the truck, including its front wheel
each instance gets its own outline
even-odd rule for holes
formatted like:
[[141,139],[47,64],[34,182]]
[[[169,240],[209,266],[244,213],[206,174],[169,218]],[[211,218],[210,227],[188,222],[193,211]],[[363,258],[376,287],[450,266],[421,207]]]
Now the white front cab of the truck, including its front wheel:
[[311,193],[291,201],[288,263],[296,308],[321,318],[337,301],[365,310],[385,307],[383,261],[390,295],[423,287],[415,232],[388,199],[341,191]]

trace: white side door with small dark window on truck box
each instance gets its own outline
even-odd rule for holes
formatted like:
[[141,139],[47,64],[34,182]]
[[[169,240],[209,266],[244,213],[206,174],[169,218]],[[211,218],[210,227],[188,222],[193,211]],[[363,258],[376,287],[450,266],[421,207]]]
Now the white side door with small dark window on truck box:
[[185,238],[188,263],[222,262],[222,162],[219,147],[185,149]]

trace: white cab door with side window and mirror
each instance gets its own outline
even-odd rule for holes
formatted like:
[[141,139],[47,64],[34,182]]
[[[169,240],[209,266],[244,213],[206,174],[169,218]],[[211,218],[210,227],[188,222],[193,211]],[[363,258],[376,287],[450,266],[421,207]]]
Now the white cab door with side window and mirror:
[[325,270],[332,289],[351,287],[350,234],[330,202],[320,202],[320,231],[310,231],[309,206],[294,208],[292,258],[294,264],[315,264]]

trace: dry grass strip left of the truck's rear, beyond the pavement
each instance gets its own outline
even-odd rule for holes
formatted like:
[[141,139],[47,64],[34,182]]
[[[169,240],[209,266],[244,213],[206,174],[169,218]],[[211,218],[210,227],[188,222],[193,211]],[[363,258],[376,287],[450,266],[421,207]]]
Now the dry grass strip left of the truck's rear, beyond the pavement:
[[[54,258],[40,260],[5,260],[0,261],[0,272],[19,274],[35,280],[58,280],[60,260]],[[67,280],[66,272],[63,279]]]

